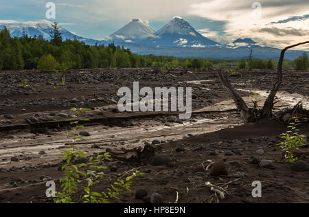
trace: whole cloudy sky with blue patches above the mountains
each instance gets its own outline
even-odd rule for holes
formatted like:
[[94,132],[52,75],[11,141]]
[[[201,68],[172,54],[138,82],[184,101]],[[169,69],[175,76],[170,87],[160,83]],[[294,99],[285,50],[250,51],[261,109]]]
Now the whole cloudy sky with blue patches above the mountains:
[[[284,47],[309,40],[308,0],[49,0],[56,21],[71,32],[102,39],[133,18],[159,30],[181,16],[219,43],[252,38],[260,45]],[[0,20],[46,19],[45,0],[0,0]],[[301,47],[309,50],[309,46]]]

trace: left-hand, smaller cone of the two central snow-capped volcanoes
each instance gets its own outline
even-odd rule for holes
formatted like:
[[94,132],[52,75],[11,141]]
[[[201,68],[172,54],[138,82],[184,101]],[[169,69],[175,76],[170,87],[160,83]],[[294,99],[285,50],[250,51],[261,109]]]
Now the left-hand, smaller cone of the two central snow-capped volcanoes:
[[143,38],[153,37],[154,34],[155,30],[152,30],[152,28],[144,21],[141,19],[133,19],[130,23],[111,34],[106,39],[133,42]]

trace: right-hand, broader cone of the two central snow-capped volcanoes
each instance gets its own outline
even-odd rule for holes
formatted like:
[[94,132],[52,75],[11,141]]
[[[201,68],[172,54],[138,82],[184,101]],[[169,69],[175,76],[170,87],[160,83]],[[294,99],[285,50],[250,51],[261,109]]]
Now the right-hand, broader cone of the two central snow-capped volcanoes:
[[[155,33],[155,38],[148,38],[149,43],[160,47],[217,47],[220,43],[198,33],[190,23],[179,16]],[[141,43],[146,43],[143,41]]]

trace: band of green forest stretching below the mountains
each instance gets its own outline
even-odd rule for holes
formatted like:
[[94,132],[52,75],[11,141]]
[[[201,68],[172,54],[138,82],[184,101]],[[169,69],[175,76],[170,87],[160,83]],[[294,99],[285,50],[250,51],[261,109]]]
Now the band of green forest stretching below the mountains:
[[[93,68],[138,68],[160,67],[210,69],[213,65],[230,65],[241,69],[274,69],[272,60],[208,60],[204,58],[176,58],[173,56],[141,56],[133,54],[130,49],[109,45],[86,45],[77,39],[62,41],[57,23],[50,32],[51,40],[43,36],[21,38],[10,36],[5,27],[0,30],[0,70],[39,69],[41,71]],[[286,67],[295,69],[308,68],[308,56],[286,60]]]

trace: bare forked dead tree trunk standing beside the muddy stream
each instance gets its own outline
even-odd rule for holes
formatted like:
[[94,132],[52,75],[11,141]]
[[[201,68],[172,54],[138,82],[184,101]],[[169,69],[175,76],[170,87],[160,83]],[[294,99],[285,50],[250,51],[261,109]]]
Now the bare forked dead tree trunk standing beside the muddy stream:
[[[282,84],[282,64],[284,61],[284,54],[286,51],[290,48],[297,47],[299,45],[304,45],[309,43],[309,41],[306,41],[304,43],[298,43],[296,45],[290,45],[286,48],[284,48],[281,52],[281,56],[279,58],[278,67],[277,67],[277,82],[275,82],[275,85],[273,89],[271,90],[271,93],[269,93],[268,98],[266,99],[262,114],[259,118],[269,118],[273,116],[273,106],[274,106],[274,100],[275,95],[277,94],[277,91],[279,90],[281,84]],[[218,76],[222,82],[222,84],[225,86],[227,91],[231,93],[231,96],[236,103],[236,106],[238,108],[238,111],[240,111],[240,115],[242,116],[242,119],[244,120],[244,123],[247,124],[249,122],[256,122],[257,121],[257,114],[255,114],[254,109],[249,109],[246,102],[242,99],[242,97],[237,93],[237,91],[233,88],[233,86],[228,82],[227,78],[222,75],[221,72],[218,72]]]

